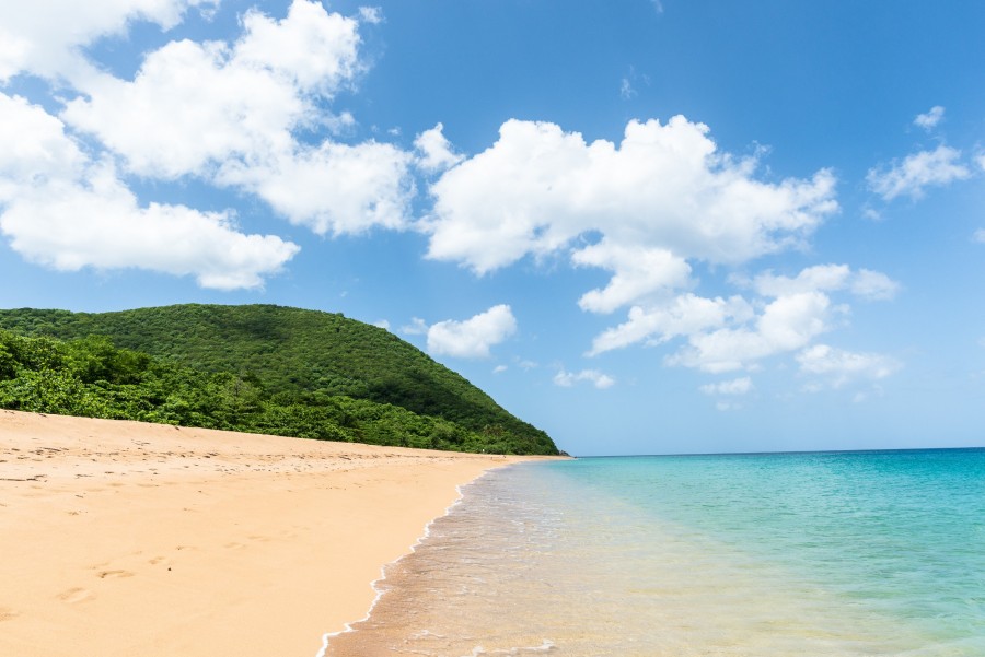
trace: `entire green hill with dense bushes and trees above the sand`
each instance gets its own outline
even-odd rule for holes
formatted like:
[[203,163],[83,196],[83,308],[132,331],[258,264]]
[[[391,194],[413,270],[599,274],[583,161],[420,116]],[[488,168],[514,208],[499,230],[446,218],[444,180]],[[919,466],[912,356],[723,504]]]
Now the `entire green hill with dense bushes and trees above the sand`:
[[0,310],[0,406],[333,441],[556,454],[392,333],[269,305]]

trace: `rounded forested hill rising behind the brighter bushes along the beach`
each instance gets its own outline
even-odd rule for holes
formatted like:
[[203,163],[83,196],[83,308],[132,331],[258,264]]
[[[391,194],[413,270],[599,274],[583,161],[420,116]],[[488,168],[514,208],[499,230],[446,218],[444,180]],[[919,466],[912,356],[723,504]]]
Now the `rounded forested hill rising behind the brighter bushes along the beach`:
[[[104,336],[112,349],[231,377],[237,390],[248,389],[257,403],[270,407],[318,409],[344,400],[390,404],[485,436],[499,451],[557,451],[543,431],[414,345],[339,314],[273,305],[189,304],[97,314],[24,308],[0,310],[0,329],[67,342]],[[474,435],[456,445],[441,437],[447,433],[421,446],[479,444]]]

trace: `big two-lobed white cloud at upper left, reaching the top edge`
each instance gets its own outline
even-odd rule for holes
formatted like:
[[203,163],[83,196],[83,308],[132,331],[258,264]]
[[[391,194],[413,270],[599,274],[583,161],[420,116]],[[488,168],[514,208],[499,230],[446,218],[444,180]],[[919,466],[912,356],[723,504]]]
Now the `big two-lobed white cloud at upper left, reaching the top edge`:
[[132,81],[88,80],[62,118],[129,172],[236,187],[320,235],[403,228],[415,192],[409,153],[298,138],[355,120],[325,103],[363,70],[358,21],[294,0],[282,20],[251,10],[242,22],[233,44],[172,42]]

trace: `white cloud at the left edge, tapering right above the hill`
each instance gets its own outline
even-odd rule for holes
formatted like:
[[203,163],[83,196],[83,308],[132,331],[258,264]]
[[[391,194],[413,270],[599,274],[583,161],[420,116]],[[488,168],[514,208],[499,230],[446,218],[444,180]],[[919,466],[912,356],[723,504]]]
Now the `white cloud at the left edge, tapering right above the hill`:
[[204,288],[258,288],[299,247],[245,235],[229,212],[141,206],[108,161],[93,162],[42,107],[0,93],[0,232],[61,271],[139,268]]

